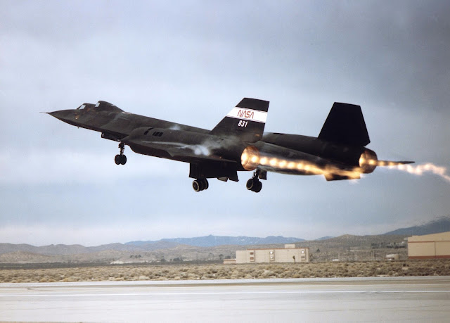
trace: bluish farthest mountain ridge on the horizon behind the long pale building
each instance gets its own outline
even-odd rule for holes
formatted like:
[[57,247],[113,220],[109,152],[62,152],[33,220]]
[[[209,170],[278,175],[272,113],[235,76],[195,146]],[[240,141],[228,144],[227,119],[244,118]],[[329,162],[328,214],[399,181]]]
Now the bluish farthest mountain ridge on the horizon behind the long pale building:
[[284,236],[266,236],[266,238],[257,238],[253,236],[197,236],[195,238],[174,238],[161,239],[159,241],[131,241],[125,245],[132,246],[150,246],[153,243],[167,242],[179,243],[195,247],[215,247],[224,245],[248,246],[257,244],[276,244],[276,243],[295,243],[302,242],[304,239],[285,238]]

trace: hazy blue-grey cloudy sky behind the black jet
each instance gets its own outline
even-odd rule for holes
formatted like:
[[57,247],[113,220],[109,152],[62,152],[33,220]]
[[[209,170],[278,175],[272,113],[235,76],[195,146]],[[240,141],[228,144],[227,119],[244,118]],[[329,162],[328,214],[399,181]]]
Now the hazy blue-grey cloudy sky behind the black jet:
[[[261,193],[132,153],[40,111],[105,100],[212,129],[243,97],[268,132],[317,136],[361,105],[380,159],[450,167],[448,1],[0,0],[0,242],[380,234],[450,213],[450,182],[269,173]],[[446,172],[448,175],[449,172]]]

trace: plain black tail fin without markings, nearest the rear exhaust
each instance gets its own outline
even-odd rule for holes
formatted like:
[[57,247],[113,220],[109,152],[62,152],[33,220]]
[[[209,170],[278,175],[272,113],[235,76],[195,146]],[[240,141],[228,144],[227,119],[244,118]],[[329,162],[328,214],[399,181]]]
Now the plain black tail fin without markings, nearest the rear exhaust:
[[335,102],[323,124],[319,139],[352,146],[366,146],[370,143],[361,106]]

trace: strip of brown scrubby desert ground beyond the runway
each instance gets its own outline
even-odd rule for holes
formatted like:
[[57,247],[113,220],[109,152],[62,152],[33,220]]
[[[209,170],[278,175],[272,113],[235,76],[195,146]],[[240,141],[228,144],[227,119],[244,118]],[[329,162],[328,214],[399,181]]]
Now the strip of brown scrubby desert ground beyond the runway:
[[314,277],[449,276],[450,260],[320,262],[302,264],[171,264],[84,267],[2,267],[0,282],[143,281]]

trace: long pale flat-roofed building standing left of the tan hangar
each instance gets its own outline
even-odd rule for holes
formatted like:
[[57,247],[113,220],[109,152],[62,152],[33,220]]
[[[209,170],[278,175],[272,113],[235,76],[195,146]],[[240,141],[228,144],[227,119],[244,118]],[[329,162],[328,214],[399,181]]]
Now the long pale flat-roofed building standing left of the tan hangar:
[[286,244],[285,248],[236,251],[237,264],[252,262],[309,262],[309,248],[295,248],[295,244]]

